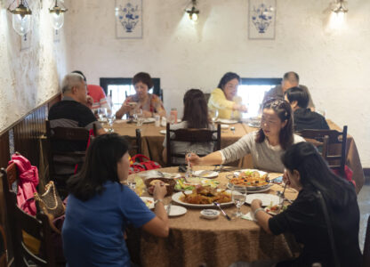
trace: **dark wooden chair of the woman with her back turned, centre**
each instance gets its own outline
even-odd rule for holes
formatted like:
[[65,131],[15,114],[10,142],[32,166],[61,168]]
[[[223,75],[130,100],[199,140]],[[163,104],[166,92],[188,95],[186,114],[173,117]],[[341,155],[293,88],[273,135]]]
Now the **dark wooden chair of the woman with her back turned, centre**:
[[[173,133],[173,137],[171,134]],[[214,139],[213,134],[217,134]],[[177,154],[172,149],[172,142],[191,142],[191,143],[209,143],[213,142],[213,151],[221,150],[221,125],[217,125],[217,130],[207,129],[178,129],[171,130],[170,124],[166,126],[166,150],[167,150],[167,166],[176,166],[173,163],[173,158],[185,158],[185,154]],[[198,155],[203,157],[205,155]],[[177,164],[178,165],[178,164]]]

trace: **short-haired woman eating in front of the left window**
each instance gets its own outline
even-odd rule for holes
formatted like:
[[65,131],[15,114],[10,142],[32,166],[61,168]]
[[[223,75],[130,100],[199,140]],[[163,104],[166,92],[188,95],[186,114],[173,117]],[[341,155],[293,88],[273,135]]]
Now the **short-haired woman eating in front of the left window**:
[[148,73],[139,72],[135,74],[133,86],[136,93],[129,95],[125,99],[122,107],[116,112],[117,118],[140,109],[144,117],[154,117],[156,113],[161,117],[165,117],[165,108],[162,101],[156,94],[148,93],[149,89],[153,87],[153,81]]

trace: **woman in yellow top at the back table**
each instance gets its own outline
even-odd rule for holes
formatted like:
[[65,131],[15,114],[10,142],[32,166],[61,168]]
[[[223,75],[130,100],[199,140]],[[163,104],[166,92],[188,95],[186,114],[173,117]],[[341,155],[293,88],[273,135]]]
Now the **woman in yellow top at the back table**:
[[218,110],[219,118],[237,119],[241,118],[240,112],[246,112],[241,97],[237,96],[237,86],[240,77],[234,72],[227,72],[221,78],[216,89],[211,93],[208,101],[208,109],[214,114]]

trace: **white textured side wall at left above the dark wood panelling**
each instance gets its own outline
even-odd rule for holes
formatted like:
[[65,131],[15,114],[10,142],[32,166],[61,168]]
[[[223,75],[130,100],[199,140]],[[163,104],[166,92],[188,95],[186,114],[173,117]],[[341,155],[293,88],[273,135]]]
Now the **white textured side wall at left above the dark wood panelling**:
[[67,71],[66,42],[61,31],[54,43],[48,0],[28,1],[32,10],[31,45],[20,51],[20,36],[12,28],[12,1],[0,1],[0,132],[59,92]]

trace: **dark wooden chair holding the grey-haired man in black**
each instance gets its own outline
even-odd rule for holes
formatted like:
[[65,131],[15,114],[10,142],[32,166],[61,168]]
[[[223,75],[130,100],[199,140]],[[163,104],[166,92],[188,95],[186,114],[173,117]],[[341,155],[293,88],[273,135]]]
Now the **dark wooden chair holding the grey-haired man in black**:
[[[50,178],[55,182],[59,190],[60,197],[64,198],[68,194],[66,182],[68,178],[75,174],[76,164],[81,167],[84,163],[86,151],[60,151],[53,149],[52,142],[88,142],[89,131],[81,127],[55,127],[51,128],[50,121],[46,120],[46,136],[49,141],[49,172]],[[62,159],[60,159],[62,158]],[[65,160],[64,158],[68,158]],[[63,166],[69,170],[67,173],[57,173],[58,166]]]

